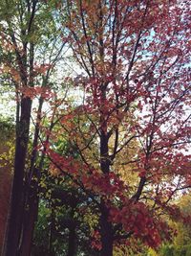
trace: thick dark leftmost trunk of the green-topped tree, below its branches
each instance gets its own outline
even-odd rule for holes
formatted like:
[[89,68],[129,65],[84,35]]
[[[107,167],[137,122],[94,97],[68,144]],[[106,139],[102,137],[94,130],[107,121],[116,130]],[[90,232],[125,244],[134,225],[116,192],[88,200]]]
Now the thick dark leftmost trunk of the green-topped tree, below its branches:
[[29,142],[30,118],[32,100],[23,98],[21,101],[21,116],[16,130],[16,145],[14,156],[14,176],[11,190],[11,211],[5,245],[6,256],[17,255],[20,231],[23,217],[23,179],[25,172],[26,154]]

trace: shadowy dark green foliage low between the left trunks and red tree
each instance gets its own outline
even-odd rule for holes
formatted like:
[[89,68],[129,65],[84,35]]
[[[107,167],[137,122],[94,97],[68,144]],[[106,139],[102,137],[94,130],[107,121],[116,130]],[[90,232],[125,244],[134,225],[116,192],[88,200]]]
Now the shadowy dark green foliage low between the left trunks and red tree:
[[49,255],[50,248],[53,255],[68,255],[70,230],[73,228],[77,255],[82,255],[82,252],[84,256],[96,255],[91,248],[90,234],[97,225],[97,216],[88,207],[88,198],[69,181],[61,175],[43,172],[32,256]]

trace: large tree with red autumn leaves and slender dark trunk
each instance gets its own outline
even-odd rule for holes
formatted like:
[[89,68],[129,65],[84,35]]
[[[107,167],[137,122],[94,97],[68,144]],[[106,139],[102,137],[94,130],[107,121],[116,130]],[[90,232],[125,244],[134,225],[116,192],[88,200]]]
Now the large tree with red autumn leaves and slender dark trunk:
[[[178,218],[171,200],[191,185],[184,154],[191,132],[189,3],[71,0],[60,3],[60,15],[65,4],[63,39],[83,70],[74,84],[84,100],[60,111],[59,134],[81,159],[51,146],[46,153],[99,210],[101,256],[130,237],[158,246],[169,237],[160,216]],[[132,142],[138,149],[126,161]],[[122,182],[116,163],[137,175],[132,186]]]

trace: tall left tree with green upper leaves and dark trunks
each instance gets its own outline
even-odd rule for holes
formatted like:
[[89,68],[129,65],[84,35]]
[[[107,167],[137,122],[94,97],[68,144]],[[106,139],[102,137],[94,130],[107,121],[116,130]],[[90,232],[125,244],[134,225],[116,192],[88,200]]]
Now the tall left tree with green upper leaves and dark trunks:
[[[31,250],[37,213],[38,181],[35,183],[34,177],[39,179],[42,165],[36,164],[39,126],[43,104],[50,97],[50,77],[64,47],[53,20],[54,4],[1,1],[1,81],[10,83],[16,96],[14,175],[5,255],[30,255]],[[34,98],[38,105],[29,152]]]

